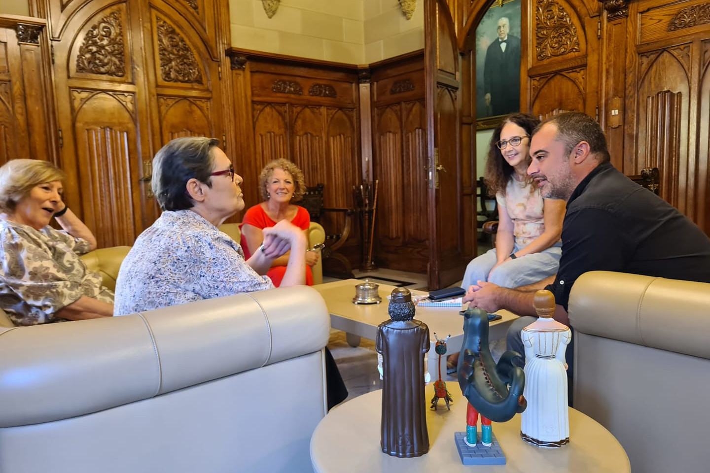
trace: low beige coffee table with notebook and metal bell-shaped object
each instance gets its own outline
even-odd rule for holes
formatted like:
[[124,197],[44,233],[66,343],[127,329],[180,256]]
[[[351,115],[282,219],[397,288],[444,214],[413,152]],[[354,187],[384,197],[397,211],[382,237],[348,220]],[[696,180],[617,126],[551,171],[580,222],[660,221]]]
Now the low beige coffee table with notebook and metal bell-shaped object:
[[[360,343],[360,337],[375,340],[377,338],[377,327],[383,321],[387,321],[390,316],[387,313],[387,296],[392,293],[395,286],[387,284],[379,285],[379,294],[382,298],[380,304],[353,304],[355,296],[355,285],[361,284],[361,279],[343,279],[342,281],[328,282],[313,286],[320,295],[323,296],[328,311],[330,313],[330,326],[337,330],[342,330],[347,334],[348,343],[356,347]],[[427,294],[426,291],[412,291],[413,294]],[[510,323],[518,318],[514,313],[508,311],[498,311],[503,318],[491,322],[489,340],[497,340],[506,335],[506,330]],[[461,350],[461,343],[464,341],[464,321],[460,310],[453,307],[417,307],[415,318],[424,322],[429,327],[431,338],[431,349],[429,350],[429,372],[432,380],[437,379],[437,363],[442,365],[442,373],[446,372],[445,357],[439,360],[439,355],[434,350],[436,340],[434,333],[439,338],[451,335],[447,342],[447,355]]]

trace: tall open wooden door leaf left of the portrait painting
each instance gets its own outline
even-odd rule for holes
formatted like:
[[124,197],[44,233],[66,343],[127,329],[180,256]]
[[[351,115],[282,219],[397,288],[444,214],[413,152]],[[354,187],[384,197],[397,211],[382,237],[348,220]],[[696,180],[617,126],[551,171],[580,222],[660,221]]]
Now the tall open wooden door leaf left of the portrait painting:
[[[466,257],[459,143],[459,49],[444,0],[425,1],[429,289],[461,279]],[[470,196],[469,196],[470,198]],[[471,240],[470,238],[468,239]]]

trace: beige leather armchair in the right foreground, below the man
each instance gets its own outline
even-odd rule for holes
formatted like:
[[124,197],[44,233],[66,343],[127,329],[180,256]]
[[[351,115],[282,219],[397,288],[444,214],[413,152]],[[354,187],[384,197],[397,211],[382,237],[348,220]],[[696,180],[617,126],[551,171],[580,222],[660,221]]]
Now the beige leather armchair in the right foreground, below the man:
[[574,407],[616,436],[632,471],[709,471],[710,284],[589,272],[569,320]]

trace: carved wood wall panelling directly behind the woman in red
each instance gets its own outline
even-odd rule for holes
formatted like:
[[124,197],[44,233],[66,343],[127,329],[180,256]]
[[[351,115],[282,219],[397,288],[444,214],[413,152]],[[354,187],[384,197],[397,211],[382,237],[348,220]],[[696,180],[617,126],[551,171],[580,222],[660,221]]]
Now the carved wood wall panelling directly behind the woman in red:
[[[264,165],[284,157],[302,169],[307,186],[325,184],[324,206],[353,208],[353,188],[362,182],[358,67],[248,50],[228,54],[239,137],[232,159],[247,206],[261,201]],[[340,233],[344,216],[326,213],[321,223],[328,234]],[[341,249],[353,264],[360,257],[357,228]]]

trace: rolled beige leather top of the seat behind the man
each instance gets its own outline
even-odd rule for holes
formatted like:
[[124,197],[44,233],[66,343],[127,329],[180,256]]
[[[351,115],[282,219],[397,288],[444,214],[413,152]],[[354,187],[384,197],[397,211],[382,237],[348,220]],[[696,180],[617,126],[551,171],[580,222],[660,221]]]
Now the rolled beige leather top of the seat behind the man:
[[710,358],[710,284],[608,271],[582,274],[569,295],[574,330]]

